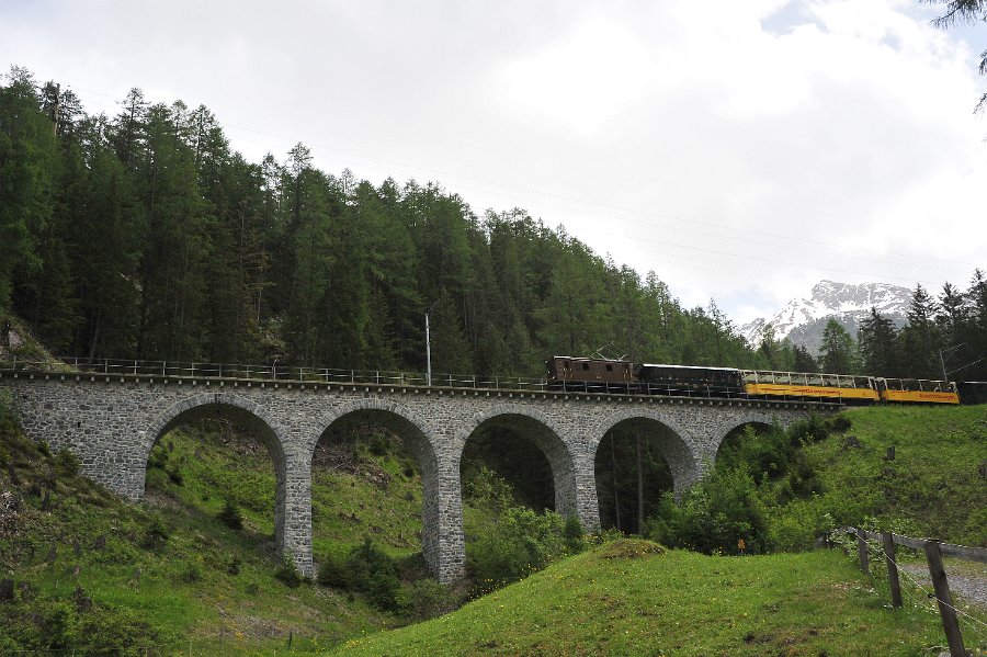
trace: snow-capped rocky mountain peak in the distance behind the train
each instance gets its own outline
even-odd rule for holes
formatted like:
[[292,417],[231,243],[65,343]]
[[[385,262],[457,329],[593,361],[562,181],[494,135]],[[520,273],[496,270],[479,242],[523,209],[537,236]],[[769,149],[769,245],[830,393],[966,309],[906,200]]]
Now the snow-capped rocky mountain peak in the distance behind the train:
[[910,303],[911,291],[898,285],[850,285],[819,281],[808,298],[792,299],[773,317],[755,319],[741,326],[740,335],[757,347],[764,325],[770,321],[776,339],[789,338],[794,344],[804,344],[810,353],[818,353],[822,329],[830,317],[835,317],[855,338],[856,327],[871,313],[871,307],[877,308],[882,316],[900,327],[905,324],[905,313]]

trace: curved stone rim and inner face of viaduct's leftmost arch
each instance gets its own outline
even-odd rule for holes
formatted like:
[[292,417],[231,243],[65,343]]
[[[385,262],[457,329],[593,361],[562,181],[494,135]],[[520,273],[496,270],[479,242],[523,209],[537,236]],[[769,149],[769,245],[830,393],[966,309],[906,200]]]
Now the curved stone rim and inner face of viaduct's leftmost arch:
[[[298,568],[311,573],[311,532],[306,534],[304,518],[294,518],[299,505],[294,497],[299,492],[296,479],[304,474],[296,472],[292,454],[286,449],[286,432],[262,406],[231,393],[200,393],[178,401],[151,420],[139,437],[138,499],[144,497],[147,461],[151,448],[171,429],[184,420],[194,420],[211,410],[250,429],[261,440],[274,462],[276,492],[274,502],[274,540],[280,554],[292,555]],[[300,505],[304,506],[304,505]],[[310,513],[310,510],[309,510]],[[290,518],[290,514],[293,517]]]

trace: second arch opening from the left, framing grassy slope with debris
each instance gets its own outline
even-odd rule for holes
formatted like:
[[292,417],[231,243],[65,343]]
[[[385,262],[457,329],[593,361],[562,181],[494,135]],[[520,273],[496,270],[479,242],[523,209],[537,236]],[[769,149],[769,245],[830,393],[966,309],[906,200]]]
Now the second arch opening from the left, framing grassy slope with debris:
[[372,539],[395,557],[419,551],[440,571],[439,464],[420,418],[356,404],[322,421],[313,445],[313,548],[342,555]]

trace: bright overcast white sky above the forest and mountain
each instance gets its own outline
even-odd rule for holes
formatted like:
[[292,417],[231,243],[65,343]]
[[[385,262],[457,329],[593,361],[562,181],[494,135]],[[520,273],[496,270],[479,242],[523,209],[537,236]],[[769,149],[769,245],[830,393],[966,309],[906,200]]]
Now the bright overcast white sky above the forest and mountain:
[[0,66],[522,207],[737,322],[987,269],[987,27],[896,0],[0,0]]

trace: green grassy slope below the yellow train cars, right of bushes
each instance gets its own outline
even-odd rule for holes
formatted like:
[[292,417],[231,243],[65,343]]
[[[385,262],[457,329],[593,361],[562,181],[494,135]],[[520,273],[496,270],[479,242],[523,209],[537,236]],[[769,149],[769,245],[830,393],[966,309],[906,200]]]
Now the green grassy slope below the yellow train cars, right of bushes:
[[821,495],[776,509],[778,523],[828,513],[835,524],[987,547],[987,406],[873,407],[844,416],[850,429],[805,448]]

